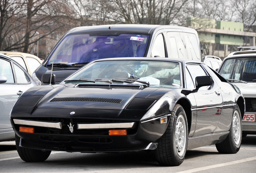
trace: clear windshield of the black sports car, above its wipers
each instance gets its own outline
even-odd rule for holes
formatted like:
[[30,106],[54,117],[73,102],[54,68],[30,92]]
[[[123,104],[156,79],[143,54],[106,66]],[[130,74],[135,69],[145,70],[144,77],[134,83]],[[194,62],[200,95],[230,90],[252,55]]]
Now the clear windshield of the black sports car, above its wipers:
[[[126,80],[128,79],[127,82]],[[130,80],[134,79],[134,80]],[[181,86],[180,64],[157,60],[106,60],[85,66],[63,83],[106,82]],[[138,82],[136,82],[136,80]],[[144,82],[141,82],[144,81]]]

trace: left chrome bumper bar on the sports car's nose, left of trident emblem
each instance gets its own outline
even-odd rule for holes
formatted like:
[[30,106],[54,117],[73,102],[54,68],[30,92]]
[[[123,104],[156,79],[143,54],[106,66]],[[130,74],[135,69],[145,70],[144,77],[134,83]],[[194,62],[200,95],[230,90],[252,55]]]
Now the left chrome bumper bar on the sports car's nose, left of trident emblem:
[[31,125],[37,127],[51,127],[56,129],[62,129],[61,123],[53,123],[53,122],[42,122],[42,121],[29,121],[29,120],[21,120],[21,119],[13,119],[14,124],[19,125]]

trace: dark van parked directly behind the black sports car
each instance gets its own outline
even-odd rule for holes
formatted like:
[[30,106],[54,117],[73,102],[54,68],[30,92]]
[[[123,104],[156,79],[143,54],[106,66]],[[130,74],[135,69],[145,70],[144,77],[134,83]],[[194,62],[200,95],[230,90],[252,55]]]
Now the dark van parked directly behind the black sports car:
[[41,84],[43,74],[66,76],[101,58],[168,57],[202,61],[196,30],[181,26],[117,24],[81,26],[69,30],[39,66],[33,79]]

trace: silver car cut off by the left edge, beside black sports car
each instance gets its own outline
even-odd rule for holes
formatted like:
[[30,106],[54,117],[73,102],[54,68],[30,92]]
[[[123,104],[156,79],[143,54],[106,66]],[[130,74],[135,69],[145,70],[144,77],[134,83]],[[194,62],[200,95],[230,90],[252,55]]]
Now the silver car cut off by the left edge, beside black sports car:
[[0,141],[14,140],[10,111],[19,95],[33,86],[36,84],[27,71],[0,53]]

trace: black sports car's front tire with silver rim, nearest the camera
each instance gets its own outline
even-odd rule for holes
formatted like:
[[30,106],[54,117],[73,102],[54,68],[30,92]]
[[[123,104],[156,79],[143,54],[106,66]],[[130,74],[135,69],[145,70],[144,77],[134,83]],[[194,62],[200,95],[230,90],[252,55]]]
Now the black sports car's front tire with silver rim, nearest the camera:
[[167,129],[158,141],[155,156],[160,165],[178,166],[184,161],[188,146],[188,121],[183,107],[175,105]]

